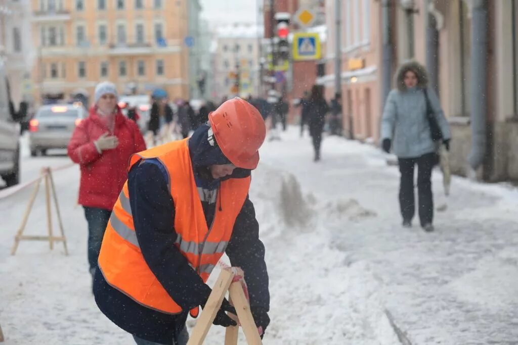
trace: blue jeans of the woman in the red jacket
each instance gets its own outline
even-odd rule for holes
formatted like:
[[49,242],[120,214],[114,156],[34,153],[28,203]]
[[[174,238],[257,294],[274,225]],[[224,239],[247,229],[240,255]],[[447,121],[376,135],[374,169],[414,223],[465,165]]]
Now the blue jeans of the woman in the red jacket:
[[103,242],[104,231],[108,225],[111,211],[103,208],[87,207],[84,208],[84,217],[88,222],[88,263],[92,277],[97,267],[100,245]]

